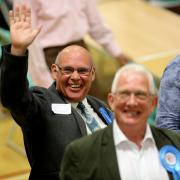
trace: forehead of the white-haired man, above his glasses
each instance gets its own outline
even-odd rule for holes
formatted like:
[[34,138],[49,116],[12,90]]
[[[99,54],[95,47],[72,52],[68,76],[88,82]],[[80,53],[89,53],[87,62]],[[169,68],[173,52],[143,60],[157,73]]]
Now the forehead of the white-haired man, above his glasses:
[[149,81],[144,73],[125,71],[118,80],[117,89],[149,91]]

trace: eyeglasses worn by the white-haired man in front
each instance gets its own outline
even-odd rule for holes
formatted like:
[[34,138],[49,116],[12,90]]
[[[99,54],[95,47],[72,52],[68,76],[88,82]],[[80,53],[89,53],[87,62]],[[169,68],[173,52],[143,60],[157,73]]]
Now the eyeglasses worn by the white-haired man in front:
[[137,100],[141,100],[141,101],[145,101],[149,96],[151,96],[152,94],[144,92],[144,91],[118,91],[115,93],[119,98],[121,98],[122,100],[129,100],[129,98],[131,97],[131,95],[134,95],[134,97]]

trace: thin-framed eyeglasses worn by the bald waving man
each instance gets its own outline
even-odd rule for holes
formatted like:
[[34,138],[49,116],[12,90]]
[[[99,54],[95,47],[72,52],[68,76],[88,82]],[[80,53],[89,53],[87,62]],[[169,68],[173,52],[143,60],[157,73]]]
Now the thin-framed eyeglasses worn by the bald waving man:
[[59,70],[61,71],[61,73],[63,75],[72,75],[74,73],[74,71],[77,71],[77,73],[79,75],[87,76],[90,74],[90,72],[92,70],[92,67],[90,67],[90,68],[79,67],[79,68],[75,69],[75,68],[70,67],[70,66],[61,67],[58,64],[56,64],[56,66],[59,68]]

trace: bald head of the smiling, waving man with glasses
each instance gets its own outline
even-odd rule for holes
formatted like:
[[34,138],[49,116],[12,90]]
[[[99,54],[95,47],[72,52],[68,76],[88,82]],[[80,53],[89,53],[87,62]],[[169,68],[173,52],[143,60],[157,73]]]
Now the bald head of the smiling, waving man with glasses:
[[68,46],[58,54],[51,72],[56,81],[56,89],[69,102],[83,100],[95,79],[90,53],[77,45]]

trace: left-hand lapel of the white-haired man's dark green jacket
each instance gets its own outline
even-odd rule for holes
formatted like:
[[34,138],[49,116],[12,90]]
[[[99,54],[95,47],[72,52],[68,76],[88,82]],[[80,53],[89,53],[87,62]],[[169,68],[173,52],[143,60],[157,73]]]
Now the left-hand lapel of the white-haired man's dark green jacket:
[[103,161],[102,164],[104,164],[105,169],[107,171],[107,174],[109,174],[110,179],[118,179],[120,180],[119,175],[119,169],[118,169],[118,163],[117,163],[117,157],[116,157],[116,151],[113,141],[113,134],[112,134],[112,125],[109,125],[103,134],[102,137],[102,155]]

